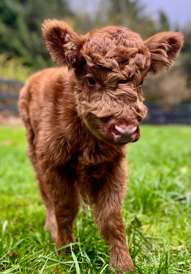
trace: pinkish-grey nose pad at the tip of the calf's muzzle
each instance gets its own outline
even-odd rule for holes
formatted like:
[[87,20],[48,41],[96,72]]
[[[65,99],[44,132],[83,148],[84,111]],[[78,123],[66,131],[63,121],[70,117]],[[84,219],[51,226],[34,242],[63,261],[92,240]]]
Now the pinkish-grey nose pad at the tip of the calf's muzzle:
[[128,126],[128,127],[119,127],[115,125],[114,127],[114,138],[119,143],[130,143],[134,141],[135,131],[137,130],[137,126]]

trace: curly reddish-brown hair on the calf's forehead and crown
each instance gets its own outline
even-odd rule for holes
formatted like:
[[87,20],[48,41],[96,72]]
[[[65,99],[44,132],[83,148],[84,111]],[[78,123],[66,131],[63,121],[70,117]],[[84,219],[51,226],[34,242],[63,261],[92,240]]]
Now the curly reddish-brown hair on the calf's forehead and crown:
[[81,53],[90,67],[109,68],[119,79],[130,78],[138,70],[147,71],[151,59],[139,34],[117,26],[90,32]]

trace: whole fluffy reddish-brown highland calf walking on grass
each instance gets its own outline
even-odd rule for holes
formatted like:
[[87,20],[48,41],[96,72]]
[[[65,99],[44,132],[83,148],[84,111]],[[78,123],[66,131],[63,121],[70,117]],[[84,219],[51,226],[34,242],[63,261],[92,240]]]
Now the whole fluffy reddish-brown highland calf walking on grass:
[[109,241],[111,266],[134,271],[121,212],[125,145],[140,138],[143,80],[172,66],[183,35],[163,32],[143,41],[112,26],[78,36],[56,20],[45,21],[43,34],[61,68],[34,74],[19,108],[46,206],[45,229],[51,229],[55,248],[74,242],[74,219],[86,198]]

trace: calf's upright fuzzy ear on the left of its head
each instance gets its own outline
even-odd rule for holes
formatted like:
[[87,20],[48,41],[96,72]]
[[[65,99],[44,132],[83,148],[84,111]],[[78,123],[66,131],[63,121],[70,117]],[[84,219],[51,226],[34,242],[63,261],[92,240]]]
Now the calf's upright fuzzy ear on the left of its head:
[[50,19],[44,21],[42,31],[53,61],[58,66],[74,67],[80,58],[83,36],[77,35],[65,22]]

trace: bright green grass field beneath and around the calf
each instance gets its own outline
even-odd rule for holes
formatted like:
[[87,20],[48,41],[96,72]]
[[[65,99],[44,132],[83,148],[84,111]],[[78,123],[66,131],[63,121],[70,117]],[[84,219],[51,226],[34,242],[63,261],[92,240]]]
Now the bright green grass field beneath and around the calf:
[[[123,216],[137,273],[191,273],[191,127],[142,126],[130,145]],[[23,128],[0,128],[0,272],[109,273],[108,244],[81,208],[71,254],[57,256]]]

